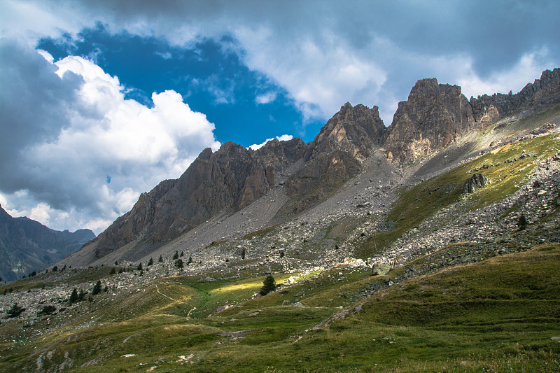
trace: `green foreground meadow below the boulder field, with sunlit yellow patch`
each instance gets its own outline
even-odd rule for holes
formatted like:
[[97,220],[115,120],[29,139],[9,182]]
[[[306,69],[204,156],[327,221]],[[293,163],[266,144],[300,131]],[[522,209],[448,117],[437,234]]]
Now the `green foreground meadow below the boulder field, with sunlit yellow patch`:
[[[356,303],[338,295],[384,276],[347,267],[300,274],[300,283],[256,299],[262,277],[179,276],[127,295],[119,304],[130,314],[106,305],[92,311],[94,325],[78,325],[85,314],[18,351],[3,346],[0,370],[35,370],[42,356],[44,370],[73,360],[72,372],[552,372],[560,368],[560,344],[550,339],[560,330],[559,266],[560,245],[549,244],[409,279]],[[214,314],[226,300],[237,306]],[[330,319],[339,305],[350,312]],[[185,314],[193,307],[200,318]]]

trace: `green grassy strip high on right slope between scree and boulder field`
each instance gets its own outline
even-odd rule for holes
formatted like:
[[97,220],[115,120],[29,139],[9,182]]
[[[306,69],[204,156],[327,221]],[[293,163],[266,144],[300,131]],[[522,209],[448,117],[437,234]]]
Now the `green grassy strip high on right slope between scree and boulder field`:
[[[382,251],[403,233],[417,227],[445,206],[457,202],[462,195],[463,183],[472,176],[475,169],[488,177],[491,185],[485,189],[486,192],[473,195],[468,209],[478,209],[512,194],[526,181],[533,164],[560,150],[557,137],[557,134],[553,134],[510,143],[404,190],[391,206],[387,217],[388,221],[395,223],[395,227],[357,243],[356,254],[359,258],[367,258]],[[526,156],[528,154],[531,156]],[[524,157],[521,158],[521,155]],[[514,161],[516,157],[517,160]]]

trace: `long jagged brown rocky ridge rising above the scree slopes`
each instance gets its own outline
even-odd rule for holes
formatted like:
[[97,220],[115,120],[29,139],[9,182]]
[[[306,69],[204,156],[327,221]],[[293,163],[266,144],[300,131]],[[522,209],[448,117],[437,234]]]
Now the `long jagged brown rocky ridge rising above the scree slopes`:
[[[207,220],[232,216],[274,189],[286,202],[273,219],[261,223],[281,223],[332,197],[374,157],[378,166],[389,162],[388,172],[399,174],[402,167],[507,115],[525,115],[558,103],[559,68],[544,71],[517,94],[485,94],[470,100],[457,85],[422,79],[407,101],[400,102],[389,127],[379,118],[377,106],[346,103],[309,143],[296,138],[269,141],[258,150],[232,142],[215,153],[207,148],[179,179],[162,181],[143,193],[131,211],[69,262],[90,265],[123,246],[138,248],[141,258]],[[434,164],[434,171],[441,164]]]

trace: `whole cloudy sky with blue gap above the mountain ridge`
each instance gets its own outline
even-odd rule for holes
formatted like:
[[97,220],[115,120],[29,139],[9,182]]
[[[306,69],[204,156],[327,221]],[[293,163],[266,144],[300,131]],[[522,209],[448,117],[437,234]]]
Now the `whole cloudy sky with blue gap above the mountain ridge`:
[[421,78],[468,98],[560,66],[560,1],[0,0],[0,204],[102,232],[204,148],[386,126]]

